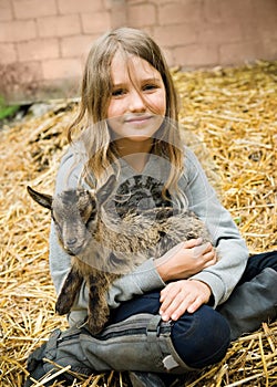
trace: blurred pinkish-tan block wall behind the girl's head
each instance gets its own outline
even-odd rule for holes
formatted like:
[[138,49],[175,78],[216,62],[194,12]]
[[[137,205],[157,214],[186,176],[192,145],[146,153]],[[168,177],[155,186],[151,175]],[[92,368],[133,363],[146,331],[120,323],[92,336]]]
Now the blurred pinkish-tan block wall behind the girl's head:
[[170,65],[277,60],[277,0],[0,0],[0,94],[75,95],[91,42],[120,25],[146,30]]

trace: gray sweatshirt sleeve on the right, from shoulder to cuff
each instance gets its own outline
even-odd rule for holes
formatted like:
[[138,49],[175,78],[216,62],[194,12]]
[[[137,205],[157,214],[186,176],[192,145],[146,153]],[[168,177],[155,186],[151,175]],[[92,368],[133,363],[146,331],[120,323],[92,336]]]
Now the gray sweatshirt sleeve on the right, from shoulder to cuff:
[[214,307],[225,302],[243,275],[248,250],[230,213],[220,205],[215,190],[192,150],[186,148],[186,178],[183,180],[188,207],[202,219],[216,247],[218,262],[191,279],[209,285]]

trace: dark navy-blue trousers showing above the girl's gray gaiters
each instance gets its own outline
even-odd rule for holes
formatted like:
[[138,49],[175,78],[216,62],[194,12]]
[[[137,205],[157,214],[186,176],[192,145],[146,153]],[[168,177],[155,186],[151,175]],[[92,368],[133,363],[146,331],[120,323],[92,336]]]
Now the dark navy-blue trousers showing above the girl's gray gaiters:
[[[252,281],[266,268],[277,271],[277,251],[250,257],[237,286]],[[114,310],[111,323],[137,313],[157,314],[158,310],[160,292],[151,292]],[[189,367],[202,368],[219,362],[225,356],[229,345],[229,325],[217,311],[203,305],[193,314],[185,313],[173,324],[172,342],[184,363]]]

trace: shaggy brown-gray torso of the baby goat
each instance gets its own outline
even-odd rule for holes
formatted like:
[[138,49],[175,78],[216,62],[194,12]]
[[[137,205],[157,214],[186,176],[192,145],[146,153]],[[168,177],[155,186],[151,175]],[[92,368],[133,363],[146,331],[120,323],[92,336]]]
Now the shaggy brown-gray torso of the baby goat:
[[126,264],[158,258],[177,243],[197,238],[211,241],[205,224],[193,212],[172,208],[127,212],[120,219],[107,213],[95,233],[98,242],[115,257],[124,257]]

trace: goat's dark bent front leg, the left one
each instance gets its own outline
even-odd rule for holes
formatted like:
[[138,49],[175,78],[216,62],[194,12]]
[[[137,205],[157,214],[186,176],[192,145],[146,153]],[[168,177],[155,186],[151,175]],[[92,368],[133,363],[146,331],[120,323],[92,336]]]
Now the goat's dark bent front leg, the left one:
[[75,301],[75,296],[80,291],[83,276],[74,265],[71,268],[62,290],[55,303],[55,312],[59,314],[68,314]]

